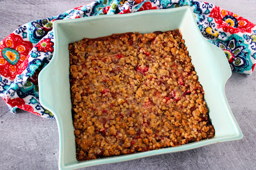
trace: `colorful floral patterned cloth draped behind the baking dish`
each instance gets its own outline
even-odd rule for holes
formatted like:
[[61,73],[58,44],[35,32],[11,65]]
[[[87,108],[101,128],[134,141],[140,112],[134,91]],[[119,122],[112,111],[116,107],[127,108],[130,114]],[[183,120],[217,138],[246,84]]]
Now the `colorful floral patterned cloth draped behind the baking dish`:
[[38,99],[37,76],[53,54],[52,22],[100,14],[122,14],[148,9],[192,7],[202,35],[221,48],[232,70],[251,74],[256,63],[256,26],[220,7],[197,0],[97,0],[58,16],[31,21],[0,42],[0,96],[16,108],[38,116],[54,116]]

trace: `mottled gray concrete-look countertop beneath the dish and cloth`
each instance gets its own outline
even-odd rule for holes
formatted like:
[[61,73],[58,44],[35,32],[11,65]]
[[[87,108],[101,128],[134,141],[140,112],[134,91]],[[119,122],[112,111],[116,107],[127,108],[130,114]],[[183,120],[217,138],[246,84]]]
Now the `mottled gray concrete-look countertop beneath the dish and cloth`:
[[[92,0],[0,0],[0,40],[19,25],[60,14]],[[205,0],[256,23],[255,0]],[[84,170],[253,170],[256,167],[256,73],[233,72],[225,86],[243,139],[185,152],[84,168]],[[57,170],[58,130],[55,120],[17,110],[0,100],[0,169]]]

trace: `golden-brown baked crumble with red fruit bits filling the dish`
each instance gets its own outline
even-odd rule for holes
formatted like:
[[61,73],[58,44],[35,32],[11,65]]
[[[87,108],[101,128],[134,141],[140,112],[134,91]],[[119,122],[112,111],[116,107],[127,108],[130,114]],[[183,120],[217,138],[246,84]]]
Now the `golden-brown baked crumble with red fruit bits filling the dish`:
[[214,136],[178,29],[84,38],[68,49],[78,161]]

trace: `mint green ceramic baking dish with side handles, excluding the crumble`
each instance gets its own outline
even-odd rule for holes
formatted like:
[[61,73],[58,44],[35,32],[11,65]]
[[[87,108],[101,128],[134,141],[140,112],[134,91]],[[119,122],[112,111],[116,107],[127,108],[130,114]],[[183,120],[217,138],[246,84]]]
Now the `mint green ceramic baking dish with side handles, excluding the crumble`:
[[[179,28],[197,72],[215,128],[215,136],[178,147],[104,159],[78,162],[71,117],[68,43],[83,37],[96,38],[112,33],[167,31]],[[224,86],[231,76],[225,54],[201,35],[190,6],[146,10],[131,14],[99,15],[53,22],[54,55],[39,74],[39,100],[56,118],[59,131],[59,169],[71,170],[100,164],[190,150],[209,144],[238,140],[242,133],[228,106]]]

